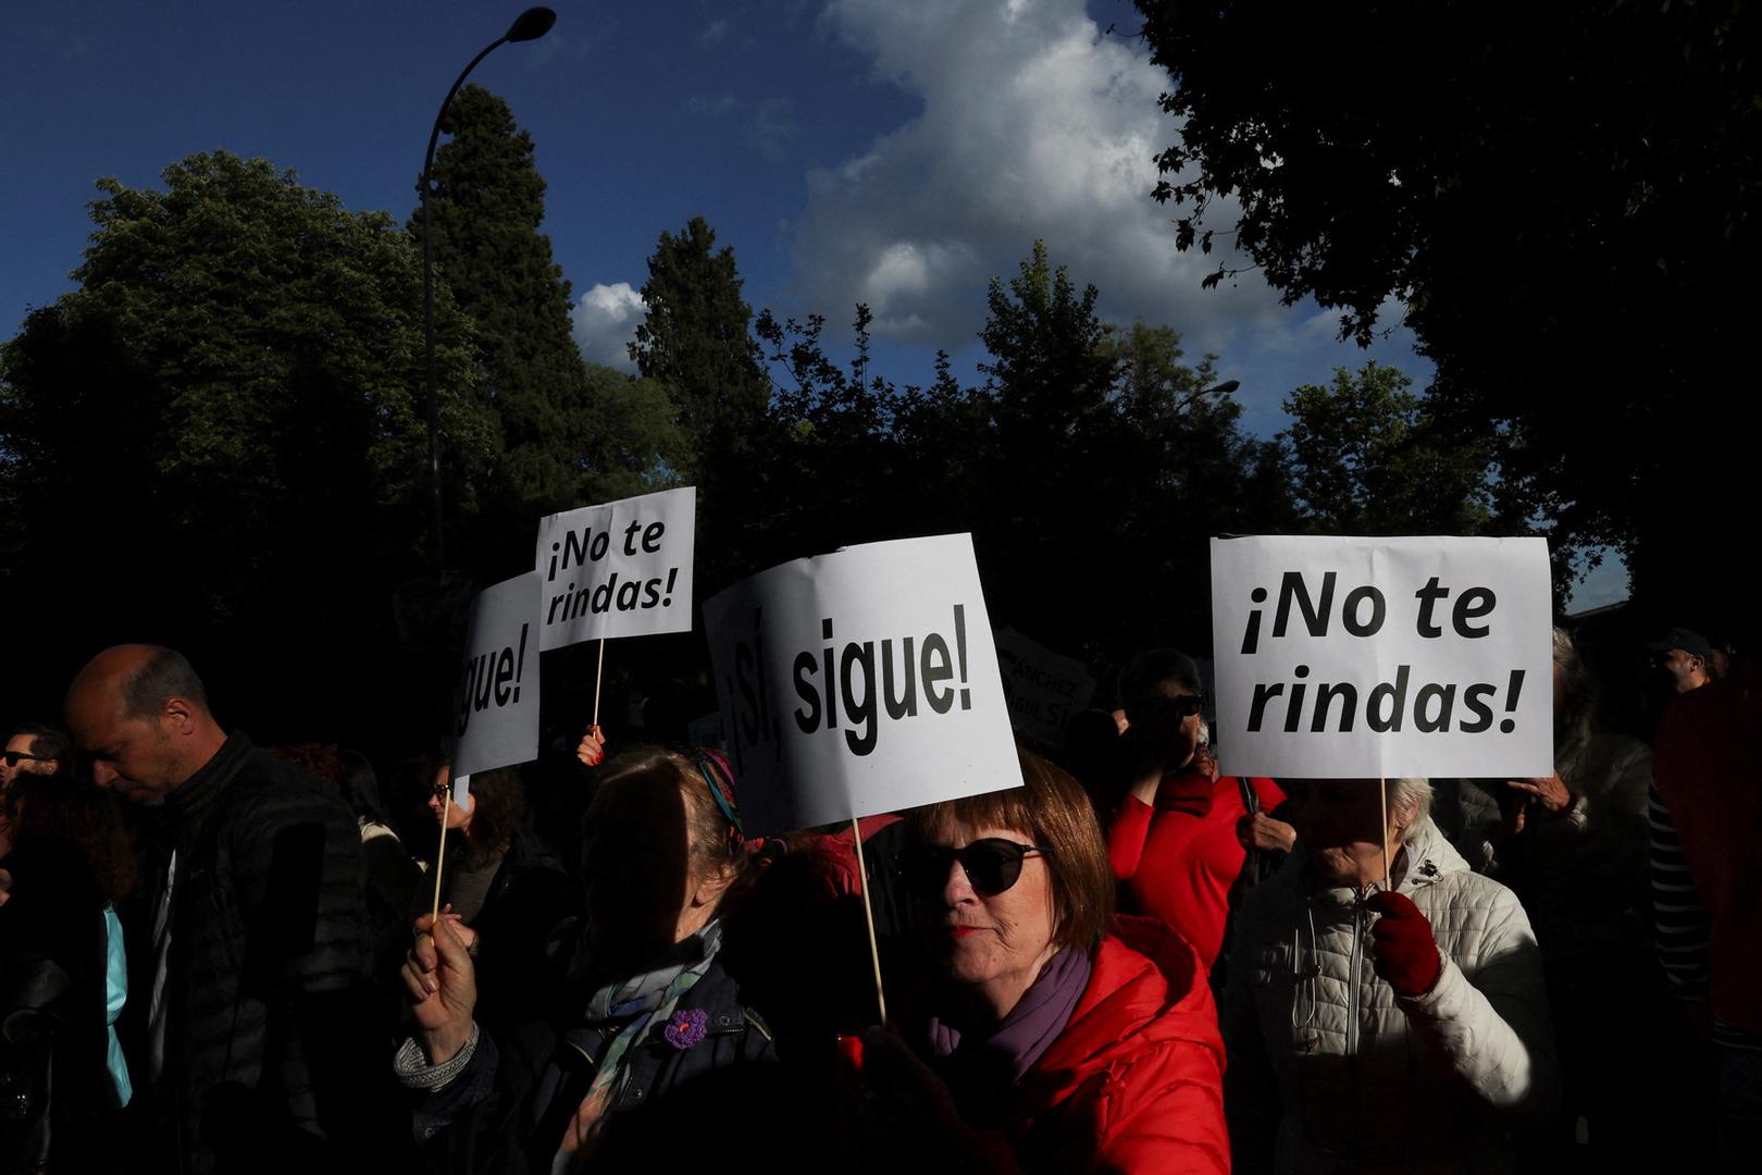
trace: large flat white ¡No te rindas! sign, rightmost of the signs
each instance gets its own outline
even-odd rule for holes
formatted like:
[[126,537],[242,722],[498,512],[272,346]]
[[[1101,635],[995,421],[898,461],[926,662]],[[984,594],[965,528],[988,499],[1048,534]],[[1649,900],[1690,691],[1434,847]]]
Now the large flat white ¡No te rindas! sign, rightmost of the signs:
[[1212,539],[1219,768],[1554,770],[1547,541]]

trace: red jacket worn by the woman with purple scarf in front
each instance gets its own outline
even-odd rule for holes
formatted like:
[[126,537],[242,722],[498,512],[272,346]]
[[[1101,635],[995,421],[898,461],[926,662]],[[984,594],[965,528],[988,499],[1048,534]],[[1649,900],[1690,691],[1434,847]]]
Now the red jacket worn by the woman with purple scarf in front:
[[1018,1094],[1004,1136],[1025,1170],[1228,1171],[1223,1039],[1193,948],[1151,918],[1119,918]]

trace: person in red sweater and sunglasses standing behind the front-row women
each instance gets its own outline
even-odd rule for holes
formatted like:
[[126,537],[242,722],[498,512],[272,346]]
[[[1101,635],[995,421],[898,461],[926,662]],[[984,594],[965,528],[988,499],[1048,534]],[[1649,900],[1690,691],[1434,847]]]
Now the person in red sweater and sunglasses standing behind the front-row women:
[[1232,891],[1249,853],[1284,854],[1297,840],[1270,812],[1284,793],[1270,779],[1212,777],[1200,752],[1200,671],[1173,648],[1152,648],[1121,675],[1131,787],[1108,830],[1121,909],[1158,920],[1218,964]]

